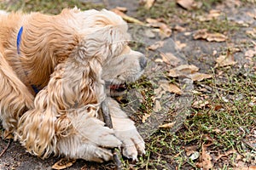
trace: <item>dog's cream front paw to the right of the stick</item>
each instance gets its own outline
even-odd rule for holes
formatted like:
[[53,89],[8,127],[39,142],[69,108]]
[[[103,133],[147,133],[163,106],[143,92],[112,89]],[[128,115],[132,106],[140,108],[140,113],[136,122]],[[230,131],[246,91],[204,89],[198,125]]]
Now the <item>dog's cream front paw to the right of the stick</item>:
[[122,141],[123,156],[137,161],[137,156],[145,154],[145,143],[137,129],[115,131],[115,136]]

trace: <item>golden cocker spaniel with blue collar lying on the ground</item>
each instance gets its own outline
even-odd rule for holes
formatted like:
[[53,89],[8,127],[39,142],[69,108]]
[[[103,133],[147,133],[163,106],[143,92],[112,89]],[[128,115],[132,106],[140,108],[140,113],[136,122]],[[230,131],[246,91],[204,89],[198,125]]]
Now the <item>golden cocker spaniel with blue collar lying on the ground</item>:
[[[132,50],[127,23],[111,11],[0,14],[0,117],[32,155],[109,161],[111,149],[137,160],[143,138],[105,87],[136,81],[146,57]],[[108,128],[100,107],[106,100]]]

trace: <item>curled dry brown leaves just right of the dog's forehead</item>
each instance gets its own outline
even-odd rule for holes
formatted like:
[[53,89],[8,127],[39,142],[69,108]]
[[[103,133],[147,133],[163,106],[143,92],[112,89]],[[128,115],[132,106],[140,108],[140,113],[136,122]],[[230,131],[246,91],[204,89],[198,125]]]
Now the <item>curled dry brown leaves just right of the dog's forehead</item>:
[[161,39],[165,39],[172,35],[171,28],[160,20],[148,18],[146,21],[148,23],[147,26],[153,27],[154,31],[159,33]]

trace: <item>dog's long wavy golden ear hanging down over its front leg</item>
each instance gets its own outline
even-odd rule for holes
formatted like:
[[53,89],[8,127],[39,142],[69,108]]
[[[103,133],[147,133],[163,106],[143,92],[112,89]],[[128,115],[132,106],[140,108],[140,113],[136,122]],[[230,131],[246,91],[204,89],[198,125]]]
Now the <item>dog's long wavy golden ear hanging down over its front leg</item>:
[[84,105],[97,106],[104,98],[97,69],[101,71],[101,65],[94,58],[82,63],[70,58],[56,66],[47,87],[36,96],[35,108],[20,117],[17,137],[26,150],[48,157],[56,150],[58,136],[71,128],[65,118],[67,111]]

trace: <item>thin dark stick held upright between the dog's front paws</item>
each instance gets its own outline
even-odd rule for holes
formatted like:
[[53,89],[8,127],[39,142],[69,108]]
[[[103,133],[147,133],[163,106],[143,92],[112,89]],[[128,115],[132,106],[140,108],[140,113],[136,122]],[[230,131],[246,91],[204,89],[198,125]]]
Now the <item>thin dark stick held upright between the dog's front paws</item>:
[[[111,116],[109,113],[109,108],[106,99],[102,101],[102,116],[104,119],[104,122],[106,123],[107,127],[113,128]],[[114,148],[113,149],[113,161],[115,162],[115,166],[117,170],[122,170],[122,162],[119,158],[119,149]]]

